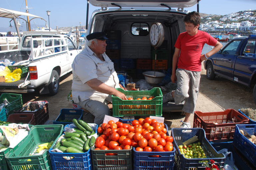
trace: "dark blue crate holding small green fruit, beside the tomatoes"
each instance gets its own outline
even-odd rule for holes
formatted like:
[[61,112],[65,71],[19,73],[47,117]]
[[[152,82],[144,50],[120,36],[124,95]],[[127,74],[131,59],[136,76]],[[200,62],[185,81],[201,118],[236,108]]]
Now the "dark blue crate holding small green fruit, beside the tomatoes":
[[[202,161],[210,162],[210,159],[214,160],[215,165],[217,165],[218,167],[222,168],[224,166],[224,161],[226,158],[225,155],[223,155],[222,153],[218,153],[213,148],[210,142],[206,139],[204,129],[186,128],[186,131],[184,131],[183,128],[172,128],[171,130],[174,143],[173,146],[176,148],[174,160],[177,170],[190,170],[193,168],[197,170],[205,170],[205,166],[202,166],[204,164],[202,163]],[[189,159],[180,153],[178,146],[182,145],[184,141],[192,138],[195,135],[197,136],[198,141],[201,142],[201,147],[204,150],[205,156],[207,158]]]

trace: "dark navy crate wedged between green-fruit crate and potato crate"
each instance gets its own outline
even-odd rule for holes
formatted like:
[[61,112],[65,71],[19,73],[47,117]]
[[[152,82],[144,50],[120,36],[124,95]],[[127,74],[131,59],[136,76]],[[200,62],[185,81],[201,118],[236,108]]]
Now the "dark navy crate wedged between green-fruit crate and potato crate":
[[[221,149],[228,149],[228,152],[232,152],[234,164],[239,170],[255,169],[252,168],[253,166],[250,166],[246,161],[244,162],[240,153],[235,151],[233,142],[211,143],[211,145],[217,150],[217,152]],[[228,156],[230,157],[230,155]]]

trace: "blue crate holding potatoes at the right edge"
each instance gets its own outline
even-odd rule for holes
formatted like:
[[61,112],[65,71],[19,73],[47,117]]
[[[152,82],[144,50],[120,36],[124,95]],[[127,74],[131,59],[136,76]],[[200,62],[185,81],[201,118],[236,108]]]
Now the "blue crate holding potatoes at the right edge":
[[244,130],[250,135],[256,135],[256,125],[236,125],[233,144],[256,167],[256,145],[240,133]]

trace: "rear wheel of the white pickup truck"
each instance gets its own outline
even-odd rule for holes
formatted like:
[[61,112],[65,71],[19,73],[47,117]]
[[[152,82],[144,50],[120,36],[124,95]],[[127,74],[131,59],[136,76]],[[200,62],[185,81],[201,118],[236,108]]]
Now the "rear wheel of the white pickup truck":
[[49,81],[49,92],[51,96],[54,96],[58,93],[60,87],[60,78],[57,71],[52,70],[51,78]]

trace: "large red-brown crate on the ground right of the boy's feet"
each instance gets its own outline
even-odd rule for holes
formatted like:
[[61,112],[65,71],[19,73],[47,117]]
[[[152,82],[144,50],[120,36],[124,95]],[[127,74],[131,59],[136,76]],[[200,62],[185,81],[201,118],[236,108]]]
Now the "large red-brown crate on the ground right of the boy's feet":
[[[224,123],[232,121],[233,123]],[[217,123],[217,124],[214,124]],[[249,119],[234,109],[222,112],[202,113],[195,111],[193,128],[203,128],[206,138],[212,140],[232,140],[236,124],[248,124]]]

